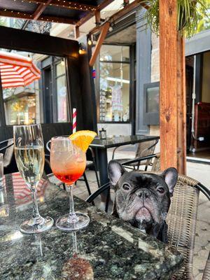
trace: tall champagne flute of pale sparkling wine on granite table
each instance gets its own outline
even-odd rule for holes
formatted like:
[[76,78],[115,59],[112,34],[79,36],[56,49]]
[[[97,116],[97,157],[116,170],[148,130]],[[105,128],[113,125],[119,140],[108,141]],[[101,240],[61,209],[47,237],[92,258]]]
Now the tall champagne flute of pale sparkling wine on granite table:
[[15,125],[13,135],[18,170],[31,190],[33,201],[33,218],[23,222],[20,231],[32,234],[50,230],[54,221],[50,217],[41,217],[36,199],[36,188],[43,174],[45,162],[41,125]]

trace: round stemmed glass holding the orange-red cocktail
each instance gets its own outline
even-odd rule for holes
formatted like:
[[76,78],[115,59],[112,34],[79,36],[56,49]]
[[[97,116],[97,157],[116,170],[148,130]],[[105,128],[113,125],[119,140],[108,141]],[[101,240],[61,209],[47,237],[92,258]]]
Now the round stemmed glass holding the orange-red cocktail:
[[83,175],[86,167],[85,153],[72,144],[69,137],[53,137],[50,148],[50,166],[53,174],[62,182],[66,183],[69,192],[69,214],[66,214],[56,221],[60,230],[80,230],[90,222],[90,218],[74,211],[73,206],[73,183]]

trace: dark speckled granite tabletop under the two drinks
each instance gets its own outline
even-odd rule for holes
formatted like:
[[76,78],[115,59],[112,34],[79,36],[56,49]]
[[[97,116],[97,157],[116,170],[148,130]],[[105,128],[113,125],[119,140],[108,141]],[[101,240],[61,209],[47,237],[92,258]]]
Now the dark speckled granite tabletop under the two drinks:
[[[69,211],[66,191],[42,180],[42,216],[55,220]],[[31,199],[19,174],[5,176],[0,190],[0,279],[170,279],[183,262],[180,253],[138,229],[75,197],[75,208],[90,216],[87,228],[22,235]]]

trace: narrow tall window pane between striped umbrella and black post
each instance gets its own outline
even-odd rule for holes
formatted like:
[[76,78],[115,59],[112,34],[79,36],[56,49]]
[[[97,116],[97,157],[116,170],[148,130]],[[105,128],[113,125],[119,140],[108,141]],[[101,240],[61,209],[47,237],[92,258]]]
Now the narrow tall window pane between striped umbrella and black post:
[[67,121],[67,96],[66,96],[66,75],[64,61],[56,65],[57,73],[57,122]]

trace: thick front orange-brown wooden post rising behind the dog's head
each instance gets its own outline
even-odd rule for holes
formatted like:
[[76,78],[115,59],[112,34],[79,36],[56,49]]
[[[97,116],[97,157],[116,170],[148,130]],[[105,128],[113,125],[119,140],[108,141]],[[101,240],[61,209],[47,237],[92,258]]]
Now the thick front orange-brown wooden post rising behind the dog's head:
[[177,0],[160,0],[160,166],[177,167]]

